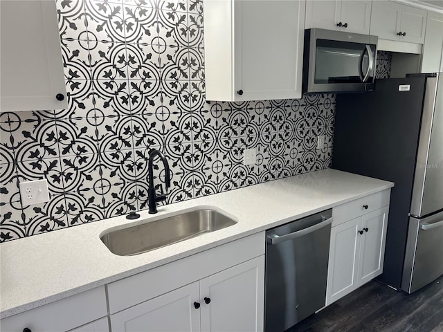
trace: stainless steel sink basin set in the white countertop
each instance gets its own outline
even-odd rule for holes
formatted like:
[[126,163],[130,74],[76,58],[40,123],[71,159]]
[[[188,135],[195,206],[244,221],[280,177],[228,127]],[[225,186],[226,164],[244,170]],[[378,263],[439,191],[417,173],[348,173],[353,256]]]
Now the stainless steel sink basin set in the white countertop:
[[116,255],[131,256],[168,246],[206,232],[214,232],[237,221],[216,210],[199,209],[119,230],[110,230],[100,239]]

